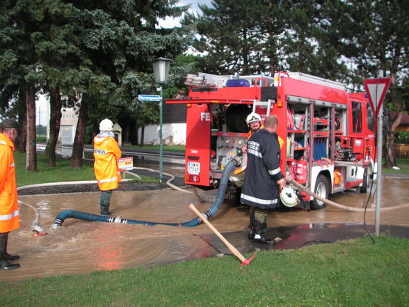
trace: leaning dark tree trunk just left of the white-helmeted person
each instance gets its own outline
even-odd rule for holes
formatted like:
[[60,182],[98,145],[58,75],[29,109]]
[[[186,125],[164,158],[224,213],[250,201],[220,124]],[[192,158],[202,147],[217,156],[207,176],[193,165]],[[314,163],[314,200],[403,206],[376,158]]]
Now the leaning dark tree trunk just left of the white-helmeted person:
[[74,145],[72,146],[72,156],[70,166],[80,168],[83,162],[83,139],[86,132],[86,121],[88,112],[88,95],[82,95],[81,106],[79,107],[77,129],[75,130]]

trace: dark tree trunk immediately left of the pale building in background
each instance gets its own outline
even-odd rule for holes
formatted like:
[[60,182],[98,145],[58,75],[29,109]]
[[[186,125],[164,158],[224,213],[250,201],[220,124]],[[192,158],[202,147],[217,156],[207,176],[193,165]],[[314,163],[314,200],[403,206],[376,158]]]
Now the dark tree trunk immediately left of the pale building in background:
[[49,140],[45,155],[48,157],[48,166],[56,166],[56,145],[61,125],[61,95],[58,88],[50,88],[50,118],[49,118]]

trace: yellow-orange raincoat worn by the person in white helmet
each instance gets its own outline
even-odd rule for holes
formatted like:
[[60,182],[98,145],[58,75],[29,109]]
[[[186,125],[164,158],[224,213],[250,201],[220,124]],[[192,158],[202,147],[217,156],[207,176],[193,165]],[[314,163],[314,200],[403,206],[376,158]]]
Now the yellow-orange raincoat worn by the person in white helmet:
[[121,181],[116,159],[122,152],[118,143],[108,134],[100,133],[94,138],[94,171],[98,187],[102,191],[116,189]]

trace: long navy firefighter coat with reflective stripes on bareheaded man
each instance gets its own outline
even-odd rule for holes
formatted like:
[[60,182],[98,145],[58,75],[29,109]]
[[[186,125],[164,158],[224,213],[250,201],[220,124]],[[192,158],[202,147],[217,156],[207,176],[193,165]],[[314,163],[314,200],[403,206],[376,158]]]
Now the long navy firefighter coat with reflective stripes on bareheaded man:
[[282,178],[278,135],[261,129],[247,143],[247,171],[241,203],[274,209],[280,201],[277,181]]

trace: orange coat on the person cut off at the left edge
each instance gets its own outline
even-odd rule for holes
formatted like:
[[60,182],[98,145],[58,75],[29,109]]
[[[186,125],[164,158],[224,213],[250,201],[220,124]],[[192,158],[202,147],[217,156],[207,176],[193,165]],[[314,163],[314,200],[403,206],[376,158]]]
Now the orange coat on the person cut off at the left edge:
[[19,228],[14,143],[0,133],[0,233]]

